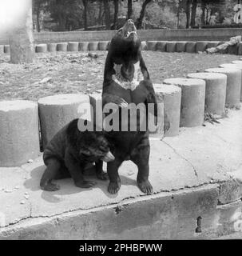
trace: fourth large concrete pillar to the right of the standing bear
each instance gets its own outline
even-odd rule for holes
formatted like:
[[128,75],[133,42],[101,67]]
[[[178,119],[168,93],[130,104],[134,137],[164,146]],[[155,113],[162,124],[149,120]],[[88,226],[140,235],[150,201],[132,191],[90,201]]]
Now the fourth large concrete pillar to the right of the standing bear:
[[210,73],[222,73],[227,75],[227,89],[225,106],[240,108],[241,71],[237,68],[213,68],[205,70]]

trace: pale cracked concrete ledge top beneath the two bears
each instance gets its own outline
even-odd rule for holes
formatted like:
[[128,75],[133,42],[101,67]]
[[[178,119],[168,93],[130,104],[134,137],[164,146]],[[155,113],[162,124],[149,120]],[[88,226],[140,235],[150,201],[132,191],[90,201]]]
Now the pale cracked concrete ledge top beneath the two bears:
[[[234,171],[242,171],[241,128],[242,110],[230,110],[229,118],[220,120],[220,124],[206,122],[205,127],[181,128],[177,137],[151,141],[150,181],[154,193],[172,194],[174,190],[231,181]],[[132,162],[121,166],[122,186],[115,195],[107,192],[108,182],[99,180],[89,190],[81,190],[71,179],[65,179],[57,181],[60,190],[42,191],[39,181],[44,169],[42,158],[21,167],[0,168],[2,228],[26,219],[38,221],[148,197],[137,188],[137,167]],[[86,179],[96,180],[93,176]]]

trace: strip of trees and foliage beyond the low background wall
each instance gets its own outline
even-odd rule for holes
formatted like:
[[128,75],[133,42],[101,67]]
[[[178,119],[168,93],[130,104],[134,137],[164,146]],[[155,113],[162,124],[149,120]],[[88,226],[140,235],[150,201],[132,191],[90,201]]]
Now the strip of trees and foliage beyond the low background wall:
[[236,26],[237,0],[33,0],[34,30],[115,30]]

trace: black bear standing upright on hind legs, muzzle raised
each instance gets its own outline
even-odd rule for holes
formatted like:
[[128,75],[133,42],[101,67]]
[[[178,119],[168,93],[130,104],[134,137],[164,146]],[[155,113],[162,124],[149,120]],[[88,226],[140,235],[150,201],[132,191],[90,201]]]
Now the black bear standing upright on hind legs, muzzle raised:
[[[157,117],[157,100],[148,70],[141,56],[141,40],[138,38],[136,27],[130,19],[112,38],[105,61],[102,91],[104,109],[109,102],[116,103],[120,107],[129,106],[130,103],[136,105],[144,103],[145,106],[153,103],[153,114]],[[146,111],[146,117],[147,115],[148,112]],[[119,118],[120,116],[121,114]],[[113,145],[111,151],[115,157],[113,162],[107,164],[108,191],[111,194],[116,194],[120,189],[121,180],[118,175],[118,168],[125,160],[131,160],[137,165],[137,186],[141,191],[146,194],[153,193],[153,186],[148,179],[149,132],[147,130],[141,131],[138,128],[141,125],[141,123],[138,124],[138,119],[137,114],[136,131],[112,130],[106,134],[110,144]],[[129,118],[130,120],[131,118]]]

